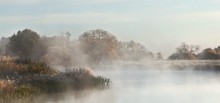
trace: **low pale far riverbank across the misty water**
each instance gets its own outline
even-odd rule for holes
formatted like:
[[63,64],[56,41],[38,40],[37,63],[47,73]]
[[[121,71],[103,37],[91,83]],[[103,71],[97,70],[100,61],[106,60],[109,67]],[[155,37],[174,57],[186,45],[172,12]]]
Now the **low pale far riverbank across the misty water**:
[[143,69],[143,70],[215,70],[220,71],[220,60],[148,60],[142,62],[118,61],[111,65],[99,65],[97,69]]

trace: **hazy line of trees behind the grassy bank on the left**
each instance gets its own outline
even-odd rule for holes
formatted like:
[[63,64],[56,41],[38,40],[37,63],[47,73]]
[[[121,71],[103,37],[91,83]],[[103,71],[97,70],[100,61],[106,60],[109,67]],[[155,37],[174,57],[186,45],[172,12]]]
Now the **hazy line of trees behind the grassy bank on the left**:
[[10,37],[2,37],[0,53],[65,66],[163,58],[161,53],[155,55],[138,42],[119,41],[115,35],[102,29],[86,31],[74,40],[69,32],[47,37],[31,29],[19,30]]

